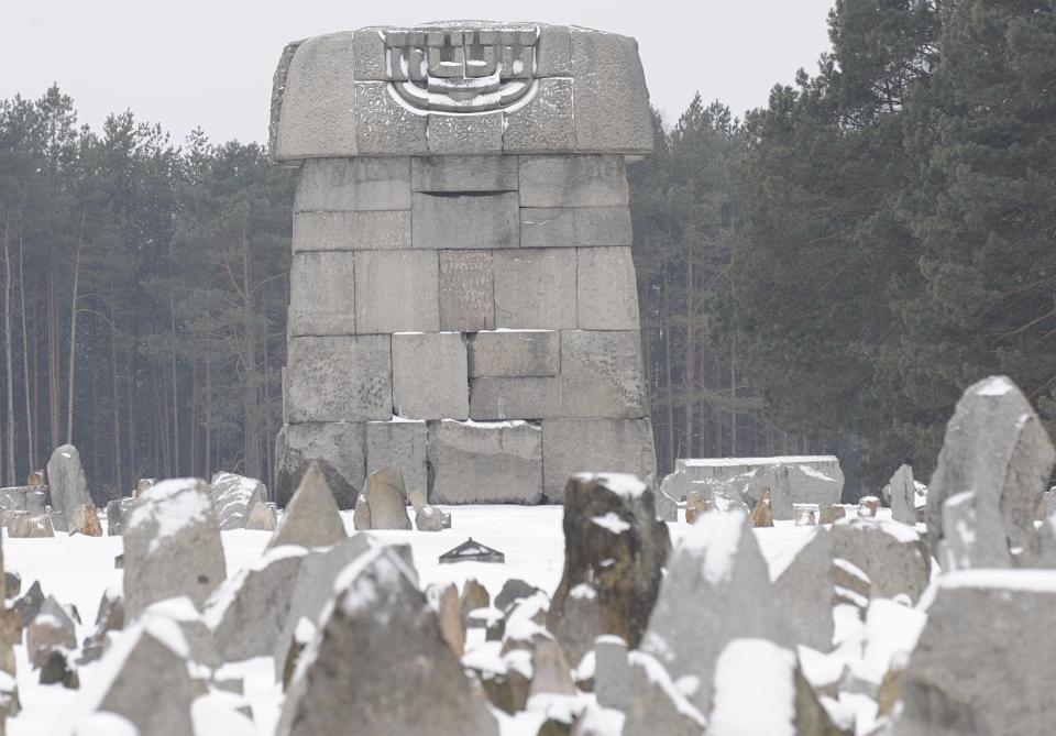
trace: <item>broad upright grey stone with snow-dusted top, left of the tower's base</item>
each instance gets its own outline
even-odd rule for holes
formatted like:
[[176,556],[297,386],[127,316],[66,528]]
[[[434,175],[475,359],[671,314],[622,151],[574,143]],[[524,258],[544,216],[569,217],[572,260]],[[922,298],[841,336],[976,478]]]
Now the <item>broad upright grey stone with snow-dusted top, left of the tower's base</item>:
[[197,479],[162,481],[142,494],[124,528],[125,612],[187,596],[196,606],[227,576],[209,486]]

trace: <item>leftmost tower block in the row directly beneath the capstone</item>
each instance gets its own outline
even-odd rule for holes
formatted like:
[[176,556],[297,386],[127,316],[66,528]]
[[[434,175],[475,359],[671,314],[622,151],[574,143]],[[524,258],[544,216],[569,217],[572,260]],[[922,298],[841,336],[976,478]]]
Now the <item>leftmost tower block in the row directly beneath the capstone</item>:
[[410,209],[408,158],[312,158],[300,167],[294,212],[404,209]]

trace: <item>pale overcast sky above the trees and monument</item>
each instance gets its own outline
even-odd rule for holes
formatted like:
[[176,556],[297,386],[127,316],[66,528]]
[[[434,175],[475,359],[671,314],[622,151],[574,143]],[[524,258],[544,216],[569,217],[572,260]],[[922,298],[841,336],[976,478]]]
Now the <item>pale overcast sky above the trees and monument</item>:
[[[460,18],[566,23],[638,40],[668,121],[693,94],[740,116],[795,70],[817,68],[832,0],[480,2],[451,0],[2,0],[0,98],[57,81],[80,122],[131,109],[182,141],[264,141],[272,73],[287,41],[364,25]],[[496,18],[498,17],[498,18]]]

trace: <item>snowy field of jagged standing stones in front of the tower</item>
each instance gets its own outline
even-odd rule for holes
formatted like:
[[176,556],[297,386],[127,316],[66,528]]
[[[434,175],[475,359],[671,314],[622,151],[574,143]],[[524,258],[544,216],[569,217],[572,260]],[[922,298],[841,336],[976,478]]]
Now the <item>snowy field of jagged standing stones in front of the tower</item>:
[[382,470],[341,512],[311,466],[279,514],[226,473],[97,513],[75,452],[3,491],[9,734],[1048,733],[1056,451],[1007,378],[930,487],[856,505],[779,459],[580,474],[563,507],[432,507]]

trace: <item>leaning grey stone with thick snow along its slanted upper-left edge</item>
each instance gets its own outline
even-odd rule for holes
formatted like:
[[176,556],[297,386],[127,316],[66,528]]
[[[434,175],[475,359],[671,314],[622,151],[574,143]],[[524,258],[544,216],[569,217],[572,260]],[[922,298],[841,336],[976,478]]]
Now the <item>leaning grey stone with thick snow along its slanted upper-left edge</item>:
[[204,616],[221,660],[274,652],[306,554],[304,547],[272,548],[209,596]]

